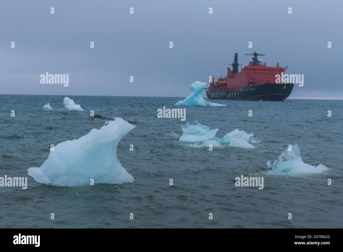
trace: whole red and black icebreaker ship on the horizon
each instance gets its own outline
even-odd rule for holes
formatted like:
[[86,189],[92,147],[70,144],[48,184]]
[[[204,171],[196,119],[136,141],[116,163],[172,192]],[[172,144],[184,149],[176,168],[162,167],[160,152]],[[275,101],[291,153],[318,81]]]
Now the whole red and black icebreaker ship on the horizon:
[[235,53],[232,70],[227,68],[226,76],[221,76],[205,88],[209,99],[239,99],[239,100],[285,100],[292,92],[294,84],[276,83],[276,76],[280,76],[287,69],[280,67],[267,67],[257,56],[264,56],[254,52],[252,61],[242,70],[238,71],[238,53]]

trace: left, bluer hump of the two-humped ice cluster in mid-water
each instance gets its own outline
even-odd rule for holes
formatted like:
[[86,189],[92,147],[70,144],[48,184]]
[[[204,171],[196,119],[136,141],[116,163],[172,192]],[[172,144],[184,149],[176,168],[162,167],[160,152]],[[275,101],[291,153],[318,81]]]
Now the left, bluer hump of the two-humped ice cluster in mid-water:
[[182,136],[179,140],[184,142],[206,142],[208,140],[219,140],[215,134],[219,129],[210,130],[206,125],[202,125],[198,121],[187,122],[182,125]]

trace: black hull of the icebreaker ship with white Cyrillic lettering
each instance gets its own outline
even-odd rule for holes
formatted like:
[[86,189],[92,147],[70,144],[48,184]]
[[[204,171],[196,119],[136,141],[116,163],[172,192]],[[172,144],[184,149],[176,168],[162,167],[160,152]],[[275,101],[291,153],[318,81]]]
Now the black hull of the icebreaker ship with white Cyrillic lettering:
[[207,98],[211,100],[262,100],[262,101],[283,101],[293,90],[294,84],[264,83],[258,86],[241,87],[240,91],[218,91],[206,90]]

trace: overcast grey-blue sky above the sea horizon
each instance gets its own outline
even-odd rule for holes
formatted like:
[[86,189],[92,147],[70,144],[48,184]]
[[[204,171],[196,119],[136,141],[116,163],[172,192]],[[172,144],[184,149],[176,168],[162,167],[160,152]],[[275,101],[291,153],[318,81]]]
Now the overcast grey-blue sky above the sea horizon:
[[[192,82],[226,74],[235,52],[246,65],[250,56],[244,53],[257,51],[266,55],[260,58],[267,65],[279,62],[288,65],[288,74],[304,74],[304,86],[295,86],[290,98],[343,98],[342,1],[15,0],[0,5],[0,94],[184,97]],[[45,72],[69,74],[69,86],[41,84]]]

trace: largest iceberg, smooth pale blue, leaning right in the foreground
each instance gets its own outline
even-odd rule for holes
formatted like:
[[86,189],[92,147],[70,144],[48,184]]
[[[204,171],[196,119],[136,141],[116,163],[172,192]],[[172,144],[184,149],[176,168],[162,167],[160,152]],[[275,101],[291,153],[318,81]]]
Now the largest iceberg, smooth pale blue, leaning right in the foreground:
[[134,127],[117,117],[79,139],[59,143],[42,166],[27,170],[28,175],[40,183],[69,187],[89,185],[91,179],[94,183],[133,182],[117,158],[117,146]]

